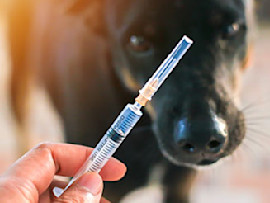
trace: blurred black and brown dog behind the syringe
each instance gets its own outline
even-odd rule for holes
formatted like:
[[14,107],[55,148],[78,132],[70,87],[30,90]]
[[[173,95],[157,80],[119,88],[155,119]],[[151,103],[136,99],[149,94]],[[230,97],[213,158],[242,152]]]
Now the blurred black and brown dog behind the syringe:
[[28,39],[69,143],[94,146],[182,35],[195,41],[117,152],[125,179],[105,188],[119,202],[161,166],[164,202],[187,202],[193,168],[230,155],[245,135],[235,97],[248,57],[248,1],[77,0],[67,12],[48,4],[35,16],[46,20],[33,23],[43,32]]

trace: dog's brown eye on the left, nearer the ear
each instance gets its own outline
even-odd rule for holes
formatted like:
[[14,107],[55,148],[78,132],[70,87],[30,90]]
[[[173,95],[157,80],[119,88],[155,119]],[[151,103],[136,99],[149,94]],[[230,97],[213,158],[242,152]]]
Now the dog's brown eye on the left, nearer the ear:
[[143,36],[132,35],[129,38],[129,46],[136,52],[146,52],[152,48],[150,41]]

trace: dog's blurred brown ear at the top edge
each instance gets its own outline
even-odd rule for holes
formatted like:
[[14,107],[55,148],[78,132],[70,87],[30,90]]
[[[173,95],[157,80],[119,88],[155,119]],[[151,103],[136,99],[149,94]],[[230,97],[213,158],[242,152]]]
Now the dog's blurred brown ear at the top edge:
[[75,0],[68,8],[69,15],[83,16],[87,26],[99,36],[106,35],[104,0]]

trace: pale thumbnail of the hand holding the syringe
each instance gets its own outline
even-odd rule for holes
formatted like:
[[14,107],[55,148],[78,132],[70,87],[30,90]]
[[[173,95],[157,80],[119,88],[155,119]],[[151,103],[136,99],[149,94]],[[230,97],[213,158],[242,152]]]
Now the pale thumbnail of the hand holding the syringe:
[[97,173],[86,173],[77,182],[78,185],[88,188],[89,192],[96,196],[101,192],[102,179]]

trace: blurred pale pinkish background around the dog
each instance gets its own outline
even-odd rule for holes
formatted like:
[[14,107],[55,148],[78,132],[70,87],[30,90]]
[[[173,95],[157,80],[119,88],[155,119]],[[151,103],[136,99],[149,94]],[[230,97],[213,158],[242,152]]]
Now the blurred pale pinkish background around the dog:
[[[9,102],[9,56],[6,41],[5,1],[0,2],[0,173],[18,158],[18,128]],[[1,5],[2,4],[2,5]],[[2,8],[2,9],[1,9]],[[254,131],[240,149],[217,166],[201,169],[192,191],[192,203],[270,202],[270,1],[257,5],[257,26],[251,68],[243,79],[241,100],[252,105],[247,117]],[[268,52],[269,51],[269,52]],[[61,120],[46,94],[33,87],[27,134],[30,146],[39,142],[63,141]],[[50,127],[48,127],[50,126]]]

